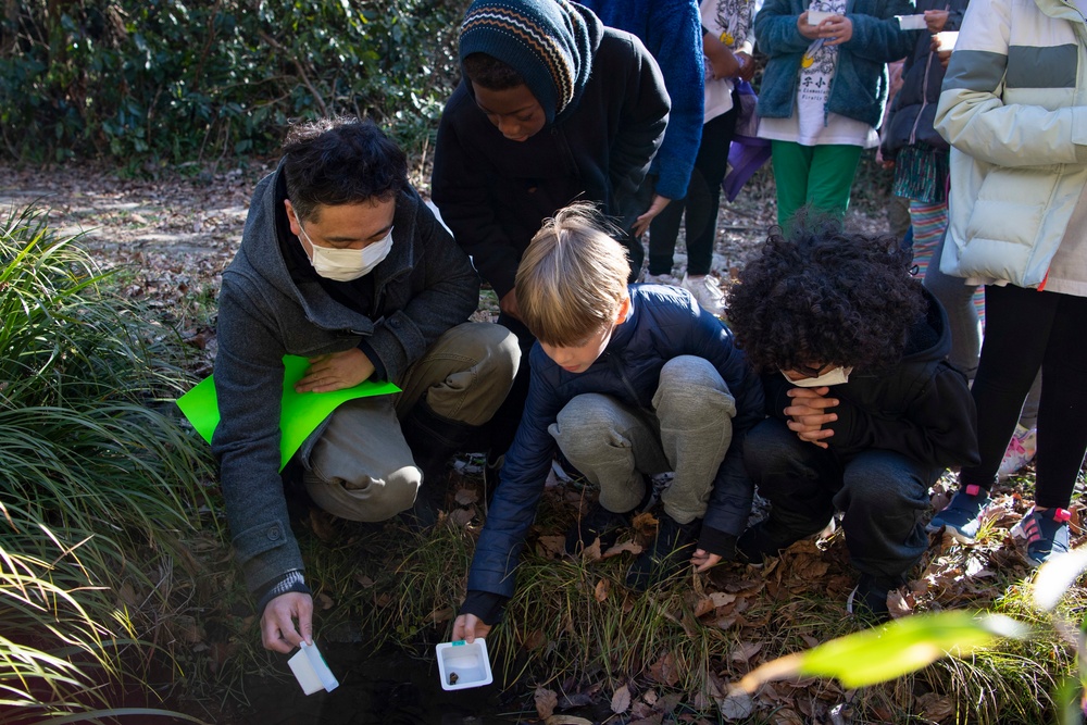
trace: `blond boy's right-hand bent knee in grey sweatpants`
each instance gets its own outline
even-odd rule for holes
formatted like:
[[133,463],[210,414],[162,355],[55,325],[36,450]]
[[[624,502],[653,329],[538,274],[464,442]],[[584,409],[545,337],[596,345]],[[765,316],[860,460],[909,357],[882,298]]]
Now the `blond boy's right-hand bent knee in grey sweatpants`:
[[736,398],[709,360],[680,355],[661,368],[653,408],[665,427],[727,425],[736,415]]

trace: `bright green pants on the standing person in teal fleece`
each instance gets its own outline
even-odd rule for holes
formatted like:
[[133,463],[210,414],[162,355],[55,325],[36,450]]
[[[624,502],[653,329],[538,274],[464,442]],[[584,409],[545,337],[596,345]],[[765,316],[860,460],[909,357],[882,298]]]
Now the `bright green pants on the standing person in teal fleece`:
[[777,223],[786,225],[804,204],[846,215],[861,147],[830,143],[801,146],[771,141],[774,183],[777,186]]

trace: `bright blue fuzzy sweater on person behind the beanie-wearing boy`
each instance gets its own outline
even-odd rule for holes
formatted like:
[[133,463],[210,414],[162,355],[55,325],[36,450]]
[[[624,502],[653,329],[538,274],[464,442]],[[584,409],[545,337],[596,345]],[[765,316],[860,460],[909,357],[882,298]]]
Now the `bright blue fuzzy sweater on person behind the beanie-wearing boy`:
[[702,32],[695,0],[583,0],[604,25],[638,36],[657,59],[672,112],[650,172],[657,193],[687,196],[687,183],[702,138],[704,93]]

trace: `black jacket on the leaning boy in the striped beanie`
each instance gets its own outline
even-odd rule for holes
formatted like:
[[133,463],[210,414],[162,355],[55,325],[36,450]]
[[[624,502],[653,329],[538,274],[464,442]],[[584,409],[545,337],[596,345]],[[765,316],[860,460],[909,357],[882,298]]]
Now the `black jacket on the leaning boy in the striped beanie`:
[[638,38],[590,20],[592,73],[574,104],[535,136],[504,138],[466,80],[441,114],[434,202],[500,298],[542,220],[572,201],[598,202],[623,228],[649,207],[637,192],[667,126],[664,79]]

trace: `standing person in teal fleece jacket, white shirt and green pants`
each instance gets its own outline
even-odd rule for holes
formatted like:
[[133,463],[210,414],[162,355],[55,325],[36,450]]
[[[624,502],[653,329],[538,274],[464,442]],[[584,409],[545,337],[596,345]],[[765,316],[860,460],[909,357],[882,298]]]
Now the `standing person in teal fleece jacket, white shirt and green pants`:
[[766,0],[754,30],[766,62],[759,136],[771,140],[777,221],[804,204],[845,215],[861,151],[879,143],[887,63],[919,32],[907,0]]

